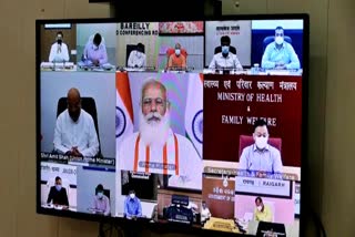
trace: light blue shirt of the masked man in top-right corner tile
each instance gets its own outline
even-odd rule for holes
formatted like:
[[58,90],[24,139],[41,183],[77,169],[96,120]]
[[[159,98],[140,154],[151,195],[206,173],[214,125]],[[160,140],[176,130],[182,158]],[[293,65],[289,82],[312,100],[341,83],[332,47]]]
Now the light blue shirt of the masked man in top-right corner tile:
[[266,47],[262,59],[262,68],[274,69],[277,62],[285,64],[288,70],[301,68],[295,50],[287,42],[283,42],[280,50],[276,48],[275,42],[272,42]]

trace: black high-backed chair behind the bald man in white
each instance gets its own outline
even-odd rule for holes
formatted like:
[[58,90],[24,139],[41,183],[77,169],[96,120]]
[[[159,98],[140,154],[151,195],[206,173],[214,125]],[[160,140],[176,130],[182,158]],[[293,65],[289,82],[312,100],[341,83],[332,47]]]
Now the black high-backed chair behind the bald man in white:
[[[57,106],[57,117],[59,114],[61,114],[63,111],[65,111],[68,107],[67,97],[60,97],[58,101]],[[87,111],[93,120],[93,123],[95,125],[97,134],[98,134],[98,141],[99,141],[99,152],[97,154],[98,157],[102,157],[101,154],[101,143],[100,143],[100,136],[99,136],[99,123],[98,123],[98,112],[97,112],[97,104],[93,97],[81,97],[81,109]]]

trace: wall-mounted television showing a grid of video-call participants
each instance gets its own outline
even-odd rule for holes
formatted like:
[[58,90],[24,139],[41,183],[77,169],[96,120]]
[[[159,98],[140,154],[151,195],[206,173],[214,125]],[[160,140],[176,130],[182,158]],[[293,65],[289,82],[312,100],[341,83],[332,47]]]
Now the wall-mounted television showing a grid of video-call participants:
[[307,44],[306,14],[38,20],[38,213],[301,236]]

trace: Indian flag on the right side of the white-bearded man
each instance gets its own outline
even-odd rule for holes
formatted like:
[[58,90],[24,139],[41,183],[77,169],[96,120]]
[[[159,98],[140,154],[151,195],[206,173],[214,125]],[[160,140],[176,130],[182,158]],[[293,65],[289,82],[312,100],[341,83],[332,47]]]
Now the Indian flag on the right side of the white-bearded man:
[[202,158],[203,132],[203,74],[189,75],[189,89],[185,109],[185,131]]

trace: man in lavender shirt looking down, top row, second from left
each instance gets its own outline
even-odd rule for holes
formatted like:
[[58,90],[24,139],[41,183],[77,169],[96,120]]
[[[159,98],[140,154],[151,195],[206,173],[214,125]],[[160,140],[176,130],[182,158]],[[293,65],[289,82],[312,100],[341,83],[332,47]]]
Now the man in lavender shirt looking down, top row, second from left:
[[102,42],[100,33],[95,33],[92,39],[89,39],[84,52],[82,54],[84,65],[100,66],[108,63],[106,47]]

